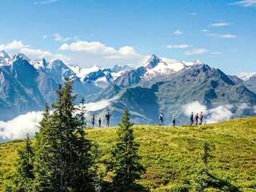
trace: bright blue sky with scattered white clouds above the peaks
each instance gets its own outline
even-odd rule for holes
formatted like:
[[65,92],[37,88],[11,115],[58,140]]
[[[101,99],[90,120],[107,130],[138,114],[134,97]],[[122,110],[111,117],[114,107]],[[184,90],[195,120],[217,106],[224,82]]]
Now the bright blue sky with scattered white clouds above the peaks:
[[146,55],[256,71],[256,0],[8,0],[0,50],[80,66]]

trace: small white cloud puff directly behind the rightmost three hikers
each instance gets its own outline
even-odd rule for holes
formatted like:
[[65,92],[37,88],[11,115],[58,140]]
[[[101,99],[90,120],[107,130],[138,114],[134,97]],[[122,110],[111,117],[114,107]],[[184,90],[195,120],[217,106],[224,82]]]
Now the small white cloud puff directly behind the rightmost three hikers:
[[195,102],[190,102],[187,103],[186,105],[182,106],[182,112],[183,114],[190,115],[191,113],[194,114],[207,114],[207,108],[206,106],[202,105],[200,102],[195,101]]

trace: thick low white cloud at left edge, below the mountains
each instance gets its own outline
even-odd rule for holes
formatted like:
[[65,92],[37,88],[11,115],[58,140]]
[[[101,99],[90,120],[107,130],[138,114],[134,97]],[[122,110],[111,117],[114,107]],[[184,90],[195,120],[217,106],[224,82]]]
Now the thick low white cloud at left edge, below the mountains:
[[42,112],[29,112],[8,121],[0,121],[0,138],[6,140],[25,138],[26,134],[33,135],[38,130],[38,122],[42,119]]

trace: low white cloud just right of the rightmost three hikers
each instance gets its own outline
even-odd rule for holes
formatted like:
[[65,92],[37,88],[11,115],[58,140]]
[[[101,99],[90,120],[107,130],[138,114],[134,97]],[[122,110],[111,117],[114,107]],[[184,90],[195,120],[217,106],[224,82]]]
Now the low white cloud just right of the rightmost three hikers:
[[223,122],[230,120],[232,118],[232,112],[230,109],[232,106],[218,106],[214,109],[210,109],[208,111],[208,116],[206,118],[206,123],[215,123],[215,122]]

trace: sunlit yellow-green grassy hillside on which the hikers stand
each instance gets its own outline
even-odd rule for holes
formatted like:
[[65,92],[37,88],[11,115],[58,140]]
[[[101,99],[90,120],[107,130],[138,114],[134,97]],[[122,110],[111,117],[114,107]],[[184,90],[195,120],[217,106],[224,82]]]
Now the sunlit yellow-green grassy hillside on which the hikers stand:
[[[214,146],[210,173],[242,191],[256,191],[256,118],[242,118],[205,126],[134,126],[146,174],[139,181],[152,191],[186,185],[203,169],[204,142]],[[88,130],[98,142],[102,160],[110,156],[116,129]],[[22,142],[0,144],[0,186],[10,172]],[[217,191],[217,190],[208,190]]]

